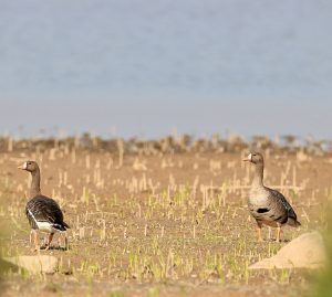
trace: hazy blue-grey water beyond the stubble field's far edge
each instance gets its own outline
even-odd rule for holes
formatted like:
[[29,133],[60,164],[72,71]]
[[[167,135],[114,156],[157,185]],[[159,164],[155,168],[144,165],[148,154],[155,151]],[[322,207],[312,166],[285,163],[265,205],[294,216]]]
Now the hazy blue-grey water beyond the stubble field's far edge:
[[0,134],[331,138],[328,0],[0,1]]

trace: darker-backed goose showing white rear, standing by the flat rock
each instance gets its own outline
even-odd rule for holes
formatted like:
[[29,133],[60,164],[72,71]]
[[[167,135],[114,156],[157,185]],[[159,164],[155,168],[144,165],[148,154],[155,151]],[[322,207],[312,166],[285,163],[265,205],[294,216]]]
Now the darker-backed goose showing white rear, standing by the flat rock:
[[31,173],[30,200],[25,206],[25,214],[33,232],[34,251],[40,250],[38,231],[49,233],[45,250],[50,248],[55,232],[66,231],[70,226],[63,222],[63,214],[59,204],[51,198],[41,194],[40,169],[37,162],[27,161],[19,169]]

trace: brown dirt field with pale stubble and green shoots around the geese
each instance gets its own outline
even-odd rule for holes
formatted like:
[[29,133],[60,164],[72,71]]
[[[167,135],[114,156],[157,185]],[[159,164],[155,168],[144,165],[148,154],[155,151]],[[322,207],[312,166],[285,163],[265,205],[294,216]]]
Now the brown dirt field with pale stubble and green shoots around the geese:
[[[302,224],[283,242],[264,227],[258,243],[247,210],[252,167],[243,153],[120,157],[52,150],[0,155],[2,256],[33,255],[24,215],[30,177],[17,167],[37,160],[42,193],[64,212],[70,248],[55,235],[53,275],[6,272],[4,296],[303,296],[312,272],[252,272],[302,233],[322,230],[332,198],[332,157],[266,152],[266,184],[291,202]],[[63,236],[62,236],[63,237]],[[59,241],[61,240],[61,242]]]

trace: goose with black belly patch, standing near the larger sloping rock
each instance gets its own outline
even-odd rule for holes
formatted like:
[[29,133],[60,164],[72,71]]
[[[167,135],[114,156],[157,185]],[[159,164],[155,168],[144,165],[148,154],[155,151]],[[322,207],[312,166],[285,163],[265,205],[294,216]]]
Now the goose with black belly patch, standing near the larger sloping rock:
[[283,224],[290,226],[301,225],[297,214],[286,198],[278,191],[263,184],[264,160],[261,153],[251,152],[243,159],[255,165],[248,206],[257,222],[258,241],[262,242],[261,227],[263,224],[277,227],[277,242],[280,242],[280,231]]

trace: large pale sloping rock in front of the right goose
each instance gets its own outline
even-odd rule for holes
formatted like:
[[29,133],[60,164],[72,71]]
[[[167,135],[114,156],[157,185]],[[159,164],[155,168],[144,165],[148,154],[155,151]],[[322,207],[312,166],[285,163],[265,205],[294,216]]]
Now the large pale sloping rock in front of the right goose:
[[249,269],[319,268],[326,259],[322,235],[304,233],[283,246],[277,255],[259,261]]

